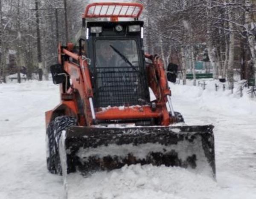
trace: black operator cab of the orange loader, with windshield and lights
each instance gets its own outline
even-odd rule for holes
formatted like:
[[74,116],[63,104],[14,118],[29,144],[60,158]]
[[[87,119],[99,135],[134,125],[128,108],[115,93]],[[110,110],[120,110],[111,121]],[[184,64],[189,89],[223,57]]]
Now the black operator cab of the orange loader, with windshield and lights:
[[[134,10],[128,7],[124,7],[127,12],[128,9]],[[137,17],[134,19],[86,22],[84,18],[86,35],[80,37],[80,54],[90,59],[95,108],[150,102],[143,21],[138,21]]]

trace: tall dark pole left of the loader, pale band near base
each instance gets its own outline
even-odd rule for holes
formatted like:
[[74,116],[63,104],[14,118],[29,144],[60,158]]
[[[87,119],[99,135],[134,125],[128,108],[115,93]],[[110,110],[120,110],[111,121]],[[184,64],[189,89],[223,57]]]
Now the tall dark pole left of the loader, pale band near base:
[[39,13],[38,13],[38,0],[35,0],[35,18],[36,18],[36,33],[37,33],[37,49],[38,49],[38,80],[43,80],[42,70],[42,55],[41,55],[41,36],[39,25]]

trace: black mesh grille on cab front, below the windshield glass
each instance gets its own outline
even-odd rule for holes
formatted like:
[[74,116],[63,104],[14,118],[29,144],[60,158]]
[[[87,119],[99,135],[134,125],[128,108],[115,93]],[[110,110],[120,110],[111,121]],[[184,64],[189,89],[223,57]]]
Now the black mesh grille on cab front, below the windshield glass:
[[137,105],[139,98],[145,99],[142,82],[139,67],[97,67],[95,106]]

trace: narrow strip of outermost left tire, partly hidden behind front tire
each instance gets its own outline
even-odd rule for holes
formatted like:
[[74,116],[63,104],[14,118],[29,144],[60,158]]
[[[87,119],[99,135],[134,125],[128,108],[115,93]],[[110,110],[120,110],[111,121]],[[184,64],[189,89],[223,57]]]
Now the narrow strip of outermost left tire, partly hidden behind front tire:
[[50,122],[46,131],[46,163],[50,173],[56,173],[55,170],[55,137],[54,123]]

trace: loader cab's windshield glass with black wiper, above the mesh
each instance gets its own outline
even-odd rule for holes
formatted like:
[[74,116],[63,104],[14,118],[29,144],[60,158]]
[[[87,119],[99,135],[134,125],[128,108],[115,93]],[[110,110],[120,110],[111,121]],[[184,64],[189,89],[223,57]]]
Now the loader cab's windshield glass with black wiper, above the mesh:
[[135,40],[96,40],[96,67],[138,67]]

